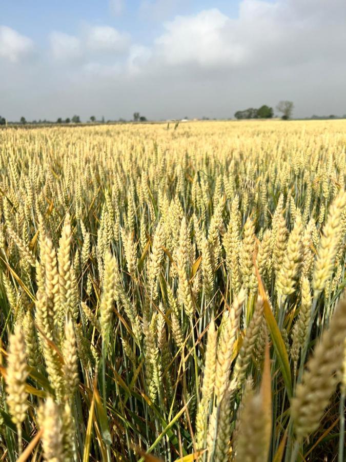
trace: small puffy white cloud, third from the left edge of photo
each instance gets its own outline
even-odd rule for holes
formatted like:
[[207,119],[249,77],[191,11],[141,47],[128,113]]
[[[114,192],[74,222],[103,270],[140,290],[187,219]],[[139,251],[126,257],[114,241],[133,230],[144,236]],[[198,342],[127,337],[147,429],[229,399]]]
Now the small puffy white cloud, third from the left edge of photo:
[[86,31],[86,46],[91,51],[123,52],[130,43],[130,36],[110,26],[94,26]]

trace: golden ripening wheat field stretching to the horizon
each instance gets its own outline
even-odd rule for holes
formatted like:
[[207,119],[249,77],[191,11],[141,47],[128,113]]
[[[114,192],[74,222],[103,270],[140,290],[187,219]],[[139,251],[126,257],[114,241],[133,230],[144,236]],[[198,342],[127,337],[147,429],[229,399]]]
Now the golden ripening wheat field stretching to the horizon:
[[345,150],[345,121],[0,130],[1,460],[344,460]]

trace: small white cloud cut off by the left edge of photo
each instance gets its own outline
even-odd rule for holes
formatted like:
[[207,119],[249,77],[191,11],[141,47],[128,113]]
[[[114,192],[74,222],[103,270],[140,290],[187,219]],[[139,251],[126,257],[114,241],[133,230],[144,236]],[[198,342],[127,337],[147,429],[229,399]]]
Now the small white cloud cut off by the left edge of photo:
[[16,63],[32,52],[34,43],[31,38],[19,34],[7,26],[0,26],[0,57]]

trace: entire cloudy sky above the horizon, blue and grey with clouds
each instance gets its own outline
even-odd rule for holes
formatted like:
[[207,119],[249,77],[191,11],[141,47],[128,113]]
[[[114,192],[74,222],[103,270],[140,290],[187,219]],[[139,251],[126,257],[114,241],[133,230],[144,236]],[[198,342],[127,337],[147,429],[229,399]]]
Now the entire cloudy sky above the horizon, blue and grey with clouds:
[[0,114],[346,114],[345,0],[0,0]]

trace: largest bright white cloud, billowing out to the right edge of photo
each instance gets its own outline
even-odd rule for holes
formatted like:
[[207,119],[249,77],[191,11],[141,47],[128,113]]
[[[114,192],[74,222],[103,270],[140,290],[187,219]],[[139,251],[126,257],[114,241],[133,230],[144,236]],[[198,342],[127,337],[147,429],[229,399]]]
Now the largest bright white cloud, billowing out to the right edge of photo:
[[[299,65],[346,51],[346,29],[340,20],[343,0],[242,0],[231,18],[217,8],[176,16],[164,23],[155,40],[155,54],[171,66],[199,69],[241,69]],[[334,5],[331,8],[331,5]],[[345,9],[345,8],[344,8]],[[346,13],[346,11],[345,11]],[[333,24],[333,26],[332,26]],[[344,40],[342,40],[342,37]]]

